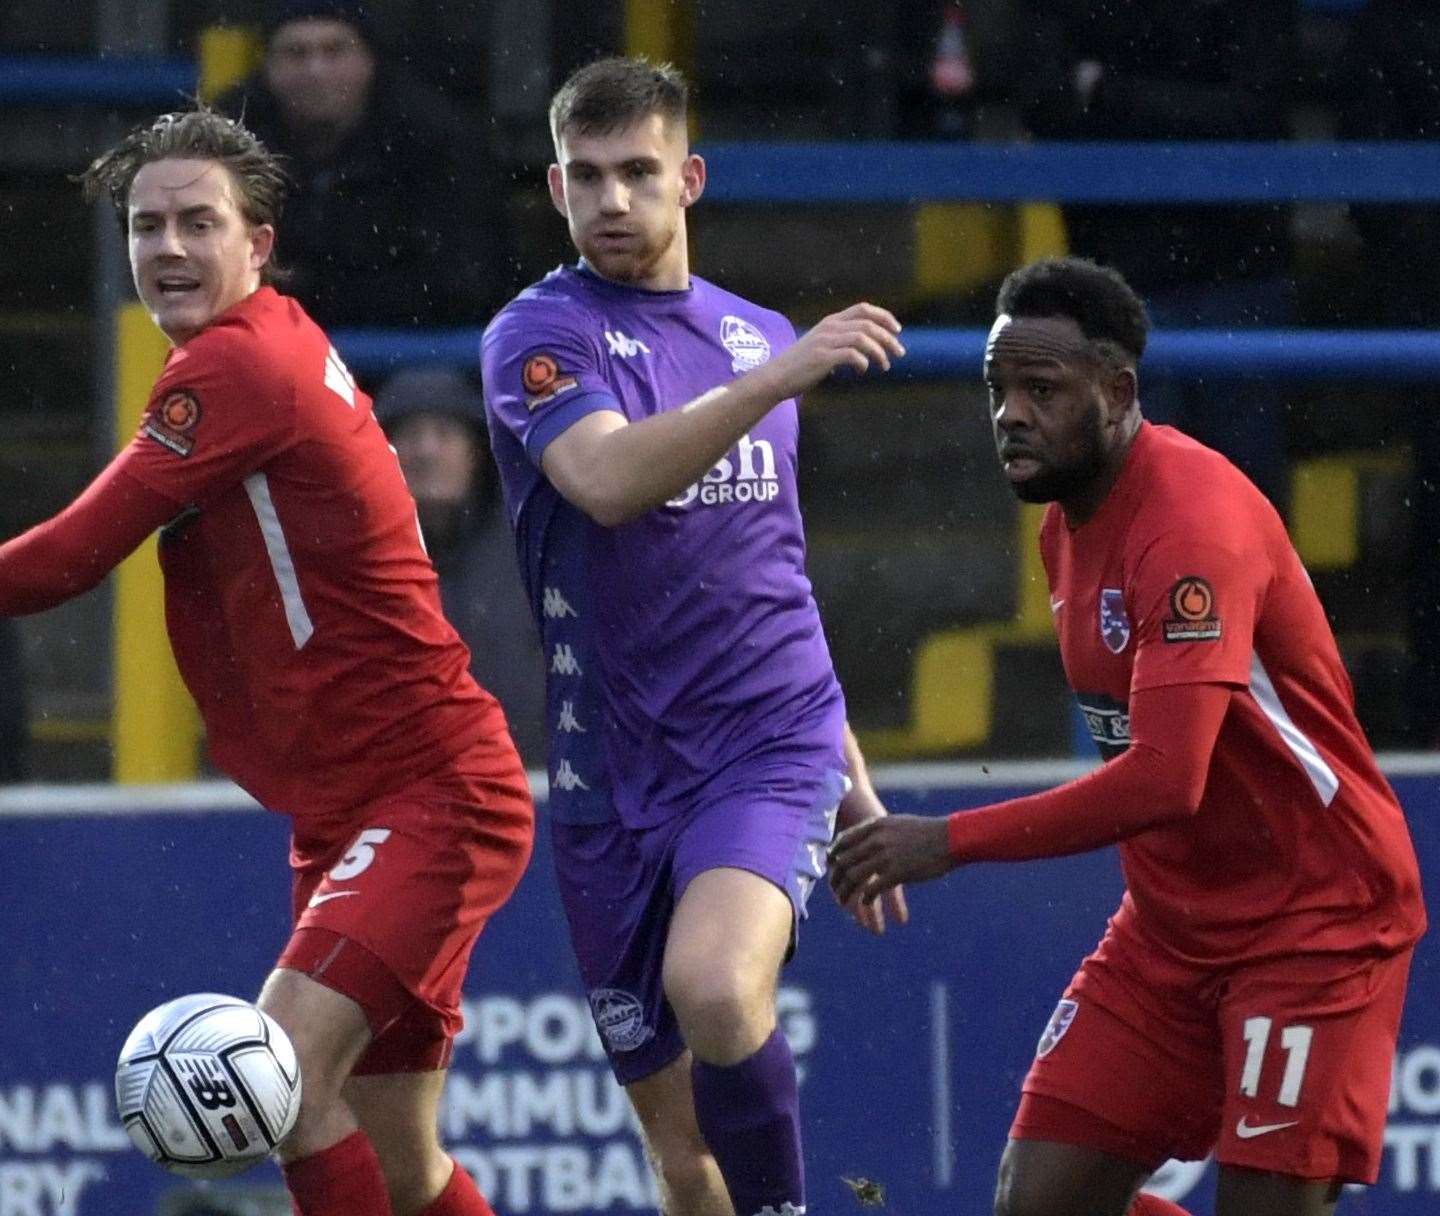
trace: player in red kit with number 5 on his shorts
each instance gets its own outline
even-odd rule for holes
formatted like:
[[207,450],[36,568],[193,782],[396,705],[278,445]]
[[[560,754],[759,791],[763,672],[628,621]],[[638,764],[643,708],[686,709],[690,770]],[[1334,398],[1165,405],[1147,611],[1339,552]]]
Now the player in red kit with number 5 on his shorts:
[[0,612],[76,595],[156,529],[216,764],[294,823],[294,932],[259,1004],[304,1075],[302,1216],[484,1216],[436,1109],[459,990],[530,856],[495,700],[441,615],[395,454],[324,333],[268,285],[284,176],[243,127],[167,114],[86,171],[174,344],[130,445],[0,546]]

